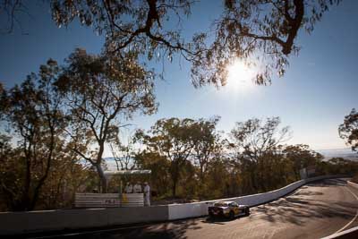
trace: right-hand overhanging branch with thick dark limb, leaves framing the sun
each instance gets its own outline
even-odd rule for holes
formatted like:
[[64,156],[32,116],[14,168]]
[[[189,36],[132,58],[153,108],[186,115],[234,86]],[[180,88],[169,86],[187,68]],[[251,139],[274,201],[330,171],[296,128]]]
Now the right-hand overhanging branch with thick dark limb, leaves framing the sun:
[[227,65],[240,59],[258,70],[253,81],[269,84],[273,73],[285,74],[289,56],[298,54],[299,31],[311,33],[328,6],[339,2],[226,0],[224,12],[213,24],[214,42],[192,64],[195,81],[226,84]]

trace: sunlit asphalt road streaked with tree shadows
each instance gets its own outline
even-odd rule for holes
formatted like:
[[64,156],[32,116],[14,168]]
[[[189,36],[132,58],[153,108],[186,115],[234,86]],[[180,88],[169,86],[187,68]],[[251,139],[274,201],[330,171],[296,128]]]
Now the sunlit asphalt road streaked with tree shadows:
[[344,179],[307,184],[234,220],[194,218],[66,238],[320,238],[358,226],[358,190]]

